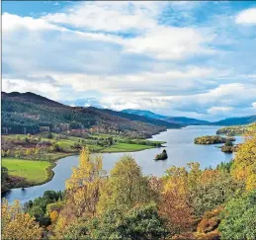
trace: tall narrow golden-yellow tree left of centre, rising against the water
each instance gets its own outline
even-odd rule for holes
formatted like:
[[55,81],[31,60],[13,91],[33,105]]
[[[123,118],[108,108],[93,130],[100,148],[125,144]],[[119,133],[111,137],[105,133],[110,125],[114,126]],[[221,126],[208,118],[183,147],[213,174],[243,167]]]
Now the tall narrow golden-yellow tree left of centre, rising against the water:
[[78,167],[72,171],[70,179],[66,181],[66,203],[56,222],[55,235],[59,238],[72,220],[95,215],[106,174],[102,169],[102,157],[91,157],[86,147],[80,152]]

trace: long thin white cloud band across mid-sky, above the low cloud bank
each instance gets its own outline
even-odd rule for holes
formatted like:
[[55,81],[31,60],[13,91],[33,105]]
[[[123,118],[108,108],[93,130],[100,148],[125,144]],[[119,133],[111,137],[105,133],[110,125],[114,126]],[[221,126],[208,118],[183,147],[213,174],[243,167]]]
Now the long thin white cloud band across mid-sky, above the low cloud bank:
[[[98,90],[103,93],[151,96],[177,95],[182,91],[200,91],[213,85],[212,81],[201,80],[214,74],[212,68],[187,67],[183,70],[164,72],[142,72],[126,75],[88,75],[65,74],[52,75],[59,84],[71,85],[77,92]],[[145,84],[146,83],[146,84]],[[201,86],[199,86],[199,83]],[[99,86],[100,89],[99,89]]]

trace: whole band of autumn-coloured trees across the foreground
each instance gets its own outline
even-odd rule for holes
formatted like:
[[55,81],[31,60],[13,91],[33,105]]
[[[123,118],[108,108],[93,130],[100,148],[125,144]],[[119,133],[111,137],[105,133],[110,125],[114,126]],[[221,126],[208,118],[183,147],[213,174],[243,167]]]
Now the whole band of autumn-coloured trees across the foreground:
[[28,216],[3,201],[3,238],[255,239],[255,147],[256,135],[238,147],[230,163],[206,170],[198,163],[173,166],[162,178],[143,176],[129,155],[107,175],[102,158],[83,148],[65,194],[40,210],[50,223],[34,215],[34,202]]

